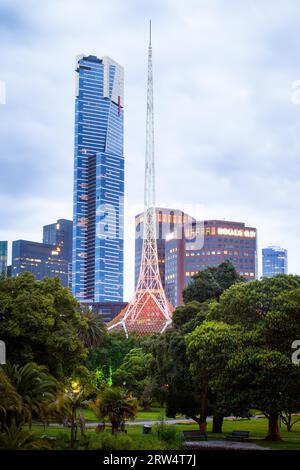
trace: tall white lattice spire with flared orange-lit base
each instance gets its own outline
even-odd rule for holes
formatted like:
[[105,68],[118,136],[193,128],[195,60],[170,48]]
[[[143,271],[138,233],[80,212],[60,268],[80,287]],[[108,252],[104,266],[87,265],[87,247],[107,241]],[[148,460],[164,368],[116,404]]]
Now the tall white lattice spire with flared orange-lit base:
[[154,113],[151,21],[148,48],[148,88],[145,155],[144,231],[141,268],[131,302],[108,323],[108,331],[147,335],[163,333],[172,323],[174,307],[168,301],[159,273],[156,244]]

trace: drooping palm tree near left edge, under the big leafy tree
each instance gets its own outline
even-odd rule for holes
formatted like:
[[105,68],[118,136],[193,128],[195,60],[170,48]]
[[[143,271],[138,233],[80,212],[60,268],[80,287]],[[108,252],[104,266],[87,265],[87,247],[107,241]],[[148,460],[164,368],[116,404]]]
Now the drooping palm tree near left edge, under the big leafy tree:
[[33,413],[39,416],[42,408],[55,399],[58,386],[56,380],[45,366],[33,362],[24,366],[7,364],[3,370],[21,400],[21,410],[9,410],[6,413],[6,424],[9,426],[14,417],[17,424],[28,422],[31,425]]

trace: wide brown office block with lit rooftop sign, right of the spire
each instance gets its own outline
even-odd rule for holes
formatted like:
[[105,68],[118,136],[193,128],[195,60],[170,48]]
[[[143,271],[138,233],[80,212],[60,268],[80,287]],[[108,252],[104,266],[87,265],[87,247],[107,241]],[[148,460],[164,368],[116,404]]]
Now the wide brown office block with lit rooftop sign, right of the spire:
[[[200,242],[195,243],[199,237]],[[257,278],[257,231],[241,222],[205,220],[167,237],[165,288],[173,305],[199,271],[229,260],[247,280]]]

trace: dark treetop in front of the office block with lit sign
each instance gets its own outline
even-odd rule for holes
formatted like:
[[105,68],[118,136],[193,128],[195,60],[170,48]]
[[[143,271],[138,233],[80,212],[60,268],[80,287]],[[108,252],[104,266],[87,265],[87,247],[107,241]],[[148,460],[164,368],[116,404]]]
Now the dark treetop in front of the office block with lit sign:
[[230,261],[224,261],[217,267],[209,267],[197,273],[183,290],[184,303],[205,302],[219,299],[224,290],[232,284],[244,281]]

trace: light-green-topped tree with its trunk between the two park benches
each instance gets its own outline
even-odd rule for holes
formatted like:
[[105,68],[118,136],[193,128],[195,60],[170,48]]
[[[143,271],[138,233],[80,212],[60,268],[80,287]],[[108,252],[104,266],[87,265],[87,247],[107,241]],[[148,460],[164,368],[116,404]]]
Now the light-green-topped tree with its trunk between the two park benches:
[[[229,358],[241,345],[241,331],[238,326],[222,322],[205,321],[186,335],[186,354],[190,371],[198,384],[200,397],[200,429],[206,428],[208,401],[214,381],[218,380]],[[214,396],[215,415],[222,425],[224,404],[219,406],[217,394]]]

